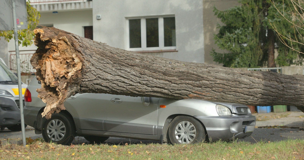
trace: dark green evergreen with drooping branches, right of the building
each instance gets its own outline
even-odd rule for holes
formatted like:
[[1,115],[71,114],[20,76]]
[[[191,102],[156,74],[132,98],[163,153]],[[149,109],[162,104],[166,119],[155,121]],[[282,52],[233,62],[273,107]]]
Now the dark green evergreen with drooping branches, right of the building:
[[[273,3],[278,9],[283,9],[284,5],[284,12],[292,12],[281,0]],[[215,43],[220,49],[230,52],[217,53],[213,49],[211,54],[215,62],[227,67],[250,68],[302,64],[302,54],[299,55],[281,43],[277,32],[272,28],[271,23],[280,32],[292,32],[292,24],[277,16],[279,12],[270,0],[241,0],[240,6],[224,11],[214,7],[213,11],[224,24],[218,25],[219,33],[214,35]],[[303,45],[295,45],[297,49],[304,50]],[[275,48],[278,49],[276,59]]]

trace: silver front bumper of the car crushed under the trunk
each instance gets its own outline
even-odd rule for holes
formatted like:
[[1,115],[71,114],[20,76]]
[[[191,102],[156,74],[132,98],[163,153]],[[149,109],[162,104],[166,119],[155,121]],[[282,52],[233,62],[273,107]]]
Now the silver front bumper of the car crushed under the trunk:
[[246,138],[250,136],[252,132],[245,133],[245,127],[254,127],[256,121],[256,117],[251,114],[194,117],[204,124],[209,137],[209,141]]

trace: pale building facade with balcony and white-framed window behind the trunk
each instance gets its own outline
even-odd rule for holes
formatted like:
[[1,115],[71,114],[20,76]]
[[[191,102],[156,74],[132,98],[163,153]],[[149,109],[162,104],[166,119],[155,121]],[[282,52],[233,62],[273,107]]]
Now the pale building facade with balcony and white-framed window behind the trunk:
[[[54,26],[109,46],[195,63],[213,63],[213,34],[219,22],[215,0],[30,0],[40,12],[39,25]],[[225,8],[225,7],[223,7]],[[228,8],[228,7],[227,7]],[[206,10],[206,11],[205,11]],[[0,57],[12,64],[15,44],[3,46]],[[36,46],[19,46],[33,54]],[[7,55],[6,55],[7,54]],[[21,58],[21,57],[20,57]],[[22,58],[21,58],[22,62]]]

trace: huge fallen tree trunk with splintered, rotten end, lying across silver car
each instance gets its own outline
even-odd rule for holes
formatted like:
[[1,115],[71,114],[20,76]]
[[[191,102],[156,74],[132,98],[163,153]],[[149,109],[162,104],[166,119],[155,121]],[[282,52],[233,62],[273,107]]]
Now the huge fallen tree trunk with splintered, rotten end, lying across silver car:
[[181,62],[114,48],[56,28],[34,30],[31,64],[42,82],[43,116],[64,109],[76,93],[169,99],[196,98],[247,105],[294,105],[304,111],[303,75],[244,71]]

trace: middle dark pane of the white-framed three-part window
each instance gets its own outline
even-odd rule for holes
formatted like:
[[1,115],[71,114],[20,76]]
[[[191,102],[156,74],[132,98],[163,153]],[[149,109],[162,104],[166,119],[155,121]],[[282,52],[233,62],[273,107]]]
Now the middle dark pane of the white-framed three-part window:
[[158,47],[158,18],[146,19],[147,47]]

